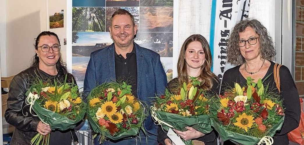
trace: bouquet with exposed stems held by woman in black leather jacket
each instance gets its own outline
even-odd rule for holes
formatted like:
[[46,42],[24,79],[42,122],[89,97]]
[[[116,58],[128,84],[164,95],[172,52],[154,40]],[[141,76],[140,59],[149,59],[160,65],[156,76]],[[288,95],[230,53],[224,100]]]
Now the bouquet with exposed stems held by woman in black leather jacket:
[[[67,130],[76,126],[85,116],[86,104],[82,102],[78,86],[67,83],[67,76],[63,83],[56,79],[43,82],[37,76],[35,83],[26,92],[26,104],[36,113],[41,122],[50,125],[51,129]],[[54,83],[52,83],[54,81]],[[50,134],[37,133],[31,144],[49,144]],[[42,143],[40,143],[42,142]]]

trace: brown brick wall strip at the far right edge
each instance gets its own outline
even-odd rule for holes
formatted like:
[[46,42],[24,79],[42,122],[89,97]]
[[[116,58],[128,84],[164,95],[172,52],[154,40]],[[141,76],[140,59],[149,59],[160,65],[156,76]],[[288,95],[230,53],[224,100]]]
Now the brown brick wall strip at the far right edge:
[[296,0],[295,7],[295,84],[304,97],[304,0]]

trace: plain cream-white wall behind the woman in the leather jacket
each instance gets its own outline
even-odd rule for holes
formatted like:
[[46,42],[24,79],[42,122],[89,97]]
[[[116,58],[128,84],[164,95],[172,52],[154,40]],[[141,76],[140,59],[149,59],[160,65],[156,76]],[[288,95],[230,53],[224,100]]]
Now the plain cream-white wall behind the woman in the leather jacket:
[[[62,45],[62,59],[66,61],[66,47],[63,45],[66,38],[66,1],[1,0],[1,4],[5,4],[5,16],[2,13],[0,18],[5,20],[4,26],[0,25],[0,46],[3,46],[3,41],[6,45],[0,48],[2,77],[16,75],[30,65],[35,54],[34,39],[42,31],[57,33]],[[49,29],[48,15],[53,13],[49,14],[47,5],[51,8],[50,13],[54,8],[64,9],[64,28]],[[2,32],[3,28],[5,32]]]

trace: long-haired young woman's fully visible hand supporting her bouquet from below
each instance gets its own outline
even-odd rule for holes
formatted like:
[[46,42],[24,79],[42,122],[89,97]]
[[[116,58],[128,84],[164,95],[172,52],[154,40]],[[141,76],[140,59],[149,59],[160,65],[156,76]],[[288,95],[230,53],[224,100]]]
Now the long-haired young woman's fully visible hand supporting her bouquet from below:
[[185,128],[187,129],[186,131],[174,130],[185,141],[205,136],[204,133],[201,133],[192,127],[187,126]]

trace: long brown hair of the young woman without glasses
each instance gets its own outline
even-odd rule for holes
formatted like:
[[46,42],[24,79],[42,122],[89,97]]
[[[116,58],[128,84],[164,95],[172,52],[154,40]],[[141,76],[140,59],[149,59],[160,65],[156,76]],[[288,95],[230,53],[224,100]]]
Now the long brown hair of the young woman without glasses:
[[213,86],[213,80],[218,80],[218,79],[216,75],[213,72],[211,72],[212,56],[211,56],[209,44],[205,39],[205,37],[199,34],[194,34],[189,36],[181,46],[181,52],[179,53],[178,63],[177,63],[178,82],[180,83],[189,82],[188,73],[187,73],[187,64],[185,61],[185,52],[188,45],[193,41],[198,41],[201,43],[206,58],[205,63],[201,67],[201,74],[198,76],[198,78],[201,80],[201,88],[211,89]]

